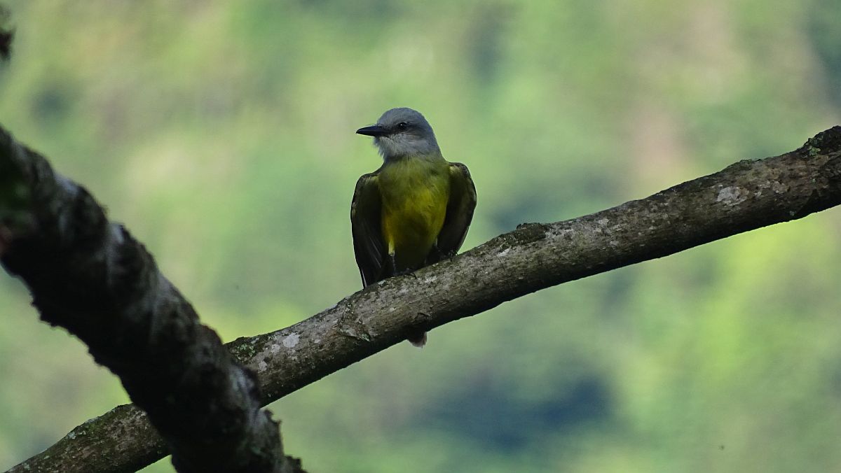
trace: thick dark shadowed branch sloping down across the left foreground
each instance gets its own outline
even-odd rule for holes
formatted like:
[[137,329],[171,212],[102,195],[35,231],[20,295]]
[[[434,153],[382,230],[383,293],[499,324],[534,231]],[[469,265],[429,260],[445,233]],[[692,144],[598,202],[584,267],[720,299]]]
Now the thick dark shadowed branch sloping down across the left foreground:
[[[278,424],[260,409],[253,372],[236,362],[213,330],[158,271],[155,261],[122,226],[111,223],[83,188],[0,129],[0,262],[19,276],[47,323],[66,328],[98,363],[119,376],[185,473],[286,472]],[[100,447],[122,445],[124,421]],[[103,430],[83,425],[71,437]],[[147,432],[151,429],[146,428]],[[131,465],[160,457],[161,449]],[[67,471],[75,455],[40,457],[29,471]],[[37,469],[35,468],[37,467]],[[84,470],[92,471],[93,465]]]

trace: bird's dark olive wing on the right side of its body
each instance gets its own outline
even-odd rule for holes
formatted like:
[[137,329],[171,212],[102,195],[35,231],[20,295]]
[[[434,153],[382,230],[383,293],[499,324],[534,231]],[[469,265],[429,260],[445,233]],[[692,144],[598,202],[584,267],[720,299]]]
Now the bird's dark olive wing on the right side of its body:
[[[470,177],[468,166],[450,163],[450,200],[447,202],[447,217],[438,234],[435,260],[455,255],[468,234],[473,209],[476,208],[476,187]],[[431,261],[434,262],[434,261]]]

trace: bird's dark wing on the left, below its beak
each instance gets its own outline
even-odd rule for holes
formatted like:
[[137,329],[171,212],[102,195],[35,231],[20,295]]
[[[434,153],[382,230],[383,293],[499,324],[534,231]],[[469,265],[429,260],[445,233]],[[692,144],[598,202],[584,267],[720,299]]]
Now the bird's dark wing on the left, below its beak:
[[372,172],[359,178],[351,202],[353,251],[357,255],[363,287],[383,279],[386,250],[380,227],[382,197],[377,174]]

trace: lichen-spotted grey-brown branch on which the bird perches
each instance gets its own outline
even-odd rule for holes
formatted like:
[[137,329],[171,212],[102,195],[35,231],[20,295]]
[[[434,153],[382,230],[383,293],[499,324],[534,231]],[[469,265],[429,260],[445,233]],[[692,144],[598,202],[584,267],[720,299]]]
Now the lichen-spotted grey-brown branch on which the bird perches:
[[[452,260],[345,297],[291,327],[227,346],[257,371],[263,402],[272,402],[399,343],[413,329],[430,330],[549,286],[839,203],[841,127],[834,127],[799,150],[743,160],[642,200],[563,222],[520,225]],[[111,469],[65,471],[124,471],[145,464],[160,455],[161,443],[144,429],[142,419],[134,407],[117,407],[79,427],[88,426],[91,434],[68,434],[29,461],[56,452],[84,455],[87,445],[107,445],[100,432],[114,434],[118,423],[125,422],[121,432],[127,437],[126,449],[101,454],[112,460]],[[18,466],[11,471],[24,470]]]

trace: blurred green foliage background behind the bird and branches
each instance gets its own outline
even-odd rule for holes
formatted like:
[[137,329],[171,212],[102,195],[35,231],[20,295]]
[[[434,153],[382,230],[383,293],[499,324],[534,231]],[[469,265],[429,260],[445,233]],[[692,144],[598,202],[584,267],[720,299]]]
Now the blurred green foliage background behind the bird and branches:
[[[0,124],[143,241],[223,339],[361,283],[355,135],[426,114],[464,249],[841,122],[837,0],[2,0]],[[841,470],[841,213],[575,281],[272,405],[312,472]],[[0,468],[127,399],[0,277]],[[172,471],[162,460],[144,471]]]

